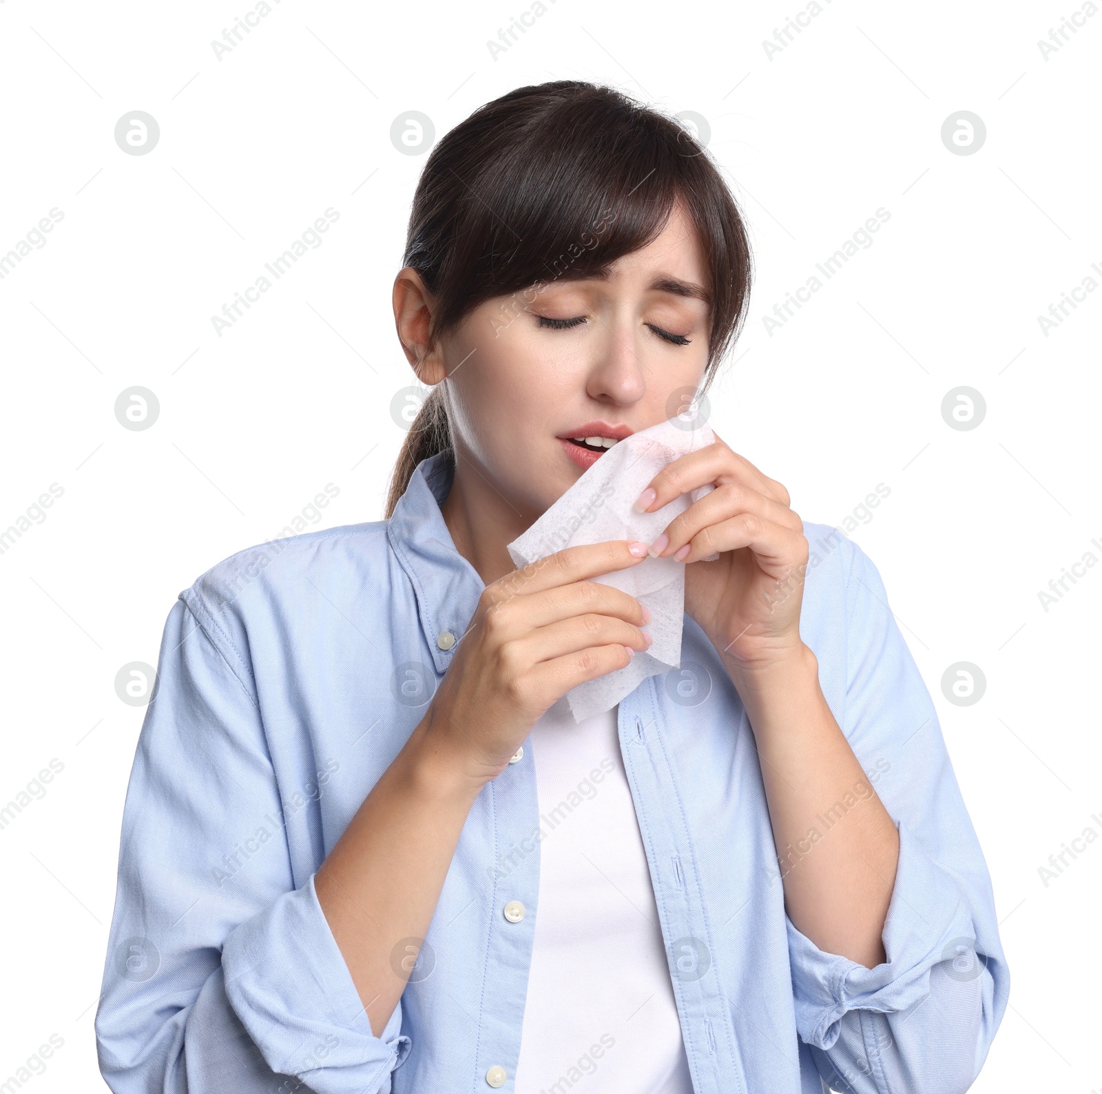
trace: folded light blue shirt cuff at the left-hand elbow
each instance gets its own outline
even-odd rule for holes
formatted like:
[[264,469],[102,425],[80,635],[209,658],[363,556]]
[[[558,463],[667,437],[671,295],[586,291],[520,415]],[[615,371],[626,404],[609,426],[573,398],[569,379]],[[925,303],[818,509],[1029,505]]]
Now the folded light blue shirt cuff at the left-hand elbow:
[[390,1090],[412,1044],[401,1001],[375,1037],[313,874],[229,934],[222,966],[230,1006],[272,1071],[318,1094]]

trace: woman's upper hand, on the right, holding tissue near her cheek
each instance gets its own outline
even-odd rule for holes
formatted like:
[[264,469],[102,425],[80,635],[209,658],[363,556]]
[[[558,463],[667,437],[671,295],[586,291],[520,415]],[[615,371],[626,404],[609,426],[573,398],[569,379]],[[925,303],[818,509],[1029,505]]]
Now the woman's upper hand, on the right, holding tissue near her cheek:
[[[728,671],[769,668],[802,649],[800,605],[807,572],[803,521],[788,490],[716,436],[668,464],[650,481],[646,511],[713,484],[674,518],[651,548],[687,563],[685,611],[700,624]],[[700,562],[713,552],[714,562]]]

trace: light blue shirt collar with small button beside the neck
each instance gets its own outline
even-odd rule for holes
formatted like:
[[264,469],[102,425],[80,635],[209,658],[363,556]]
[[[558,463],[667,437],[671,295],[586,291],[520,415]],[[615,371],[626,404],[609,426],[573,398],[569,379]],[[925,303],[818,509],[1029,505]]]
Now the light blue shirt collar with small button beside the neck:
[[[447,670],[455,643],[486,587],[475,567],[455,549],[440,509],[454,475],[451,449],[422,459],[387,524],[390,545],[413,584],[421,626],[437,672]],[[444,631],[455,637],[446,650],[437,645]]]

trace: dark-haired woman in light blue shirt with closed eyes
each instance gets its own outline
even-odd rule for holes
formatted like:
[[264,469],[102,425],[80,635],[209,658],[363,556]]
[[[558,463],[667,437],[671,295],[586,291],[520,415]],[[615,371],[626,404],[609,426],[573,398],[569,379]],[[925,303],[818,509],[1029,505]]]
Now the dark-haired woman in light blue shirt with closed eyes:
[[[393,290],[432,392],[388,519],[239,552],[169,615],[112,1090],[972,1083],[991,886],[869,559],[719,438],[644,491],[715,487],[653,543],[507,552],[706,389],[749,279],[710,156],[614,90],[520,88],[434,149]],[[681,668],[575,724],[649,645],[592,578],[648,552],[685,564]]]

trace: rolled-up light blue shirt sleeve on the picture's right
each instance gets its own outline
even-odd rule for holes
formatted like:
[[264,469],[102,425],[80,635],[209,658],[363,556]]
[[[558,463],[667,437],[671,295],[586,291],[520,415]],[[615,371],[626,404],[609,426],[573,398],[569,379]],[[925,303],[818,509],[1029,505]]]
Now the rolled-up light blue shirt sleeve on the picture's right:
[[833,1090],[954,1094],[979,1074],[1009,994],[994,897],[879,572],[846,550],[841,728],[896,824],[899,860],[883,964],[824,953],[788,921],[797,1029]]

